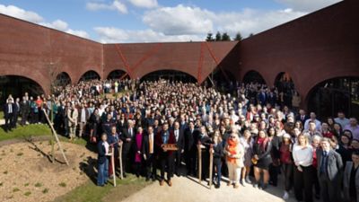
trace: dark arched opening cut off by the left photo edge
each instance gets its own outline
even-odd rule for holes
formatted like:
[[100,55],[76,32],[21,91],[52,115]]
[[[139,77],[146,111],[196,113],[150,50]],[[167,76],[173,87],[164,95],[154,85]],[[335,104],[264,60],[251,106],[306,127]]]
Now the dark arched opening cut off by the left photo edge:
[[0,103],[4,104],[8,96],[11,94],[14,99],[20,98],[25,92],[29,96],[38,96],[44,93],[44,90],[35,81],[20,75],[0,75]]

